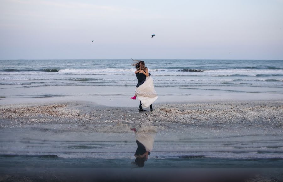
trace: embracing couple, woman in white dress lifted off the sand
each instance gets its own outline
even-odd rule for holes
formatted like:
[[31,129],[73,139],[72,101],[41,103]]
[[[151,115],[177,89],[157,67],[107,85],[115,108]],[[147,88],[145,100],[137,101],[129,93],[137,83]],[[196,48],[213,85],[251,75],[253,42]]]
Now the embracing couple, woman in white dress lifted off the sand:
[[138,96],[140,100],[139,112],[146,111],[142,107],[147,108],[148,106],[150,107],[150,111],[153,111],[152,103],[157,99],[157,94],[153,86],[153,79],[150,77],[150,73],[148,73],[144,61],[133,61],[135,61],[132,65],[136,66],[135,74],[138,83],[136,85],[135,96],[130,98],[136,100],[136,96]]

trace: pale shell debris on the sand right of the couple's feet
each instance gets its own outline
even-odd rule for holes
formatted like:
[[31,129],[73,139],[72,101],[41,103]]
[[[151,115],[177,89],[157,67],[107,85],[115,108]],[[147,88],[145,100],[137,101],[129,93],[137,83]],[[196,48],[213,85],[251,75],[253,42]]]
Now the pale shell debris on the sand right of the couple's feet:
[[[189,123],[238,123],[242,121],[269,121],[282,125],[283,105],[279,106],[245,106],[224,104],[163,104],[155,106],[148,120]],[[283,125],[282,125],[283,126]]]

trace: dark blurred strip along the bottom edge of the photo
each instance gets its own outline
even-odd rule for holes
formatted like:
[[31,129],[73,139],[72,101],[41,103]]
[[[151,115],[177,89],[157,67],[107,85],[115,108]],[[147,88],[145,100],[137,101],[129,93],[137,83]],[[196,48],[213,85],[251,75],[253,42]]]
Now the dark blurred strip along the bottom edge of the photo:
[[[218,169],[113,169],[113,168],[31,168],[26,173],[0,174],[1,181],[202,181],[202,182],[279,182],[271,174],[281,176],[282,170],[263,168],[257,174],[250,168]],[[282,179],[282,178],[281,178]]]

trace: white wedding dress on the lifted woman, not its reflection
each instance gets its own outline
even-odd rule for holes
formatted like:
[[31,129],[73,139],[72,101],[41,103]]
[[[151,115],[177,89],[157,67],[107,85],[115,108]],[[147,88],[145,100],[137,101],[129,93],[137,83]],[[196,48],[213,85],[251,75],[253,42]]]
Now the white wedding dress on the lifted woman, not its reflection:
[[153,79],[150,76],[147,76],[145,82],[137,87],[135,91],[142,102],[143,108],[147,108],[158,98],[153,86]]

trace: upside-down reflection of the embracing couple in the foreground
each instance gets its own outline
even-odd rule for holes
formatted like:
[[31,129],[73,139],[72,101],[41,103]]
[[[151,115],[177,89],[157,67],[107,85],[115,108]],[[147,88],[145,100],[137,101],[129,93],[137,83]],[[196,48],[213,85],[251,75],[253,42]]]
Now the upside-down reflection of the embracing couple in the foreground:
[[135,162],[133,164],[138,167],[143,167],[144,162],[147,161],[150,151],[153,149],[154,137],[157,130],[153,126],[138,127],[131,129],[136,133],[137,149],[135,153]]

